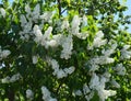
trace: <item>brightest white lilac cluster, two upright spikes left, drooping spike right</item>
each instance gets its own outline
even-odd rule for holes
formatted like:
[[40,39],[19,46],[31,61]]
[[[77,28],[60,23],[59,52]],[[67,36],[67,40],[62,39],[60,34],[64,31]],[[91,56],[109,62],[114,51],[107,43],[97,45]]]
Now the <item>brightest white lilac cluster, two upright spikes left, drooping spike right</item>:
[[49,26],[47,31],[45,31],[45,34],[41,34],[39,26],[35,25],[34,26],[34,33],[36,36],[35,42],[38,44],[41,44],[43,46],[45,46],[45,48],[48,48],[49,46],[57,47],[58,45],[61,45],[63,49],[61,52],[60,57],[64,59],[69,59],[71,57],[72,49],[73,49],[72,35],[69,34],[68,36],[66,36],[62,34],[57,34],[50,37],[51,31],[52,31],[52,27]]

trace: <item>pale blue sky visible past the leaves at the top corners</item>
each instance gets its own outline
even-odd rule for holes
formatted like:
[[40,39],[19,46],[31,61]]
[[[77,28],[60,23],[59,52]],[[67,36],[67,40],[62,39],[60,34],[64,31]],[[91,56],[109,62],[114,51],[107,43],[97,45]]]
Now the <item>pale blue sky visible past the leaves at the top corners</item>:
[[[9,0],[10,2],[12,2],[13,0]],[[122,1],[126,1],[126,0],[120,0],[121,2]],[[0,0],[1,2],[1,0]],[[124,12],[126,15],[131,15],[131,0],[127,0],[126,2],[126,5],[128,7],[128,10]],[[129,25],[129,30],[128,30],[130,33],[131,33],[131,24]]]

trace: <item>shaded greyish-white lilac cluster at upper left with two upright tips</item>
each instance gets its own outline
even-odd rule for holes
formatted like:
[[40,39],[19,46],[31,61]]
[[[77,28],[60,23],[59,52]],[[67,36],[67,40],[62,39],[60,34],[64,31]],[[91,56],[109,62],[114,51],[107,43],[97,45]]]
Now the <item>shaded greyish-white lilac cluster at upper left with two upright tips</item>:
[[[33,35],[33,23],[37,23],[38,20],[41,20],[41,23],[39,25],[38,29],[43,29],[44,26],[44,22],[47,22],[51,19],[51,14],[50,12],[45,12],[44,14],[40,15],[40,5],[36,4],[36,7],[34,8],[34,10],[32,11],[29,5],[26,4],[25,5],[25,11],[26,11],[26,15],[21,14],[20,16],[20,22],[21,22],[21,26],[22,30],[19,34],[21,35],[22,40],[28,40],[29,36]],[[38,32],[37,32],[38,33]],[[40,32],[39,32],[40,33]],[[39,35],[38,33],[38,35]]]

